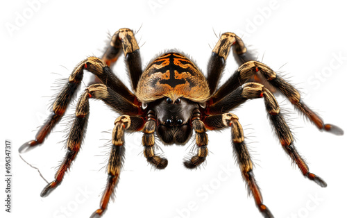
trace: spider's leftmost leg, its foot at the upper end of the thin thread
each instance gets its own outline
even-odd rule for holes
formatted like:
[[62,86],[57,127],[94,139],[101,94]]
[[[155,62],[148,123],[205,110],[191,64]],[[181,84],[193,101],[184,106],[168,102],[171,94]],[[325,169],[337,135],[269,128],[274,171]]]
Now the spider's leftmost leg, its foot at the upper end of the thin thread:
[[19,152],[27,151],[28,149],[44,142],[44,139],[49,135],[52,128],[58,124],[61,117],[64,115],[67,106],[69,106],[69,102],[73,98],[74,92],[82,81],[84,69],[95,74],[104,84],[108,85],[112,90],[117,92],[118,95],[121,95],[121,97],[136,102],[135,95],[128,90],[117,76],[112,74],[111,69],[105,64],[105,62],[95,57],[87,58],[80,62],[71,73],[69,82],[65,85],[60,94],[58,94],[56,101],[53,103],[53,112],[48,119],[46,119],[40,130],[37,131],[35,140],[23,144],[19,148]]

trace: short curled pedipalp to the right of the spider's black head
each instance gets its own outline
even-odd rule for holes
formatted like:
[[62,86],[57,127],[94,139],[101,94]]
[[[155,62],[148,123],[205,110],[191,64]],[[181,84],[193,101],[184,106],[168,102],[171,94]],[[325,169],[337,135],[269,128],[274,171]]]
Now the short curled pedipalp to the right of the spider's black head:
[[194,169],[201,165],[208,156],[208,134],[206,133],[205,124],[200,119],[201,114],[198,109],[193,111],[192,126],[195,131],[195,141],[198,152],[192,158],[183,162],[188,169]]

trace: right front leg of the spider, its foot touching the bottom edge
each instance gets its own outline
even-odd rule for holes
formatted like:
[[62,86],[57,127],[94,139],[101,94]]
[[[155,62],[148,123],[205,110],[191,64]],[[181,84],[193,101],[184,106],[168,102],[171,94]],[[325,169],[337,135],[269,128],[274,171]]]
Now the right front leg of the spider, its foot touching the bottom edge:
[[253,174],[253,162],[248,153],[246,144],[244,143],[244,131],[241,124],[239,124],[238,117],[231,113],[224,113],[223,115],[212,115],[205,117],[204,123],[210,130],[218,130],[230,126],[232,133],[232,147],[237,158],[237,162],[242,172],[242,176],[246,181],[248,192],[251,192],[255,200],[257,208],[260,210],[264,217],[273,217],[269,208],[263,204],[262,194],[258,187],[255,176]]

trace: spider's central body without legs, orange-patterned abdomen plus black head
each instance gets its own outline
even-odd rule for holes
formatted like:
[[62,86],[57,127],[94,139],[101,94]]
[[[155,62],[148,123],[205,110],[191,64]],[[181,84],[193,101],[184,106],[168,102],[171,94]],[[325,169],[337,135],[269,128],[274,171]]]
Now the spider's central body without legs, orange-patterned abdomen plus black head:
[[137,99],[149,103],[158,119],[157,133],[166,144],[184,144],[192,135],[193,112],[208,100],[205,76],[180,53],[164,53],[146,67],[139,79]]

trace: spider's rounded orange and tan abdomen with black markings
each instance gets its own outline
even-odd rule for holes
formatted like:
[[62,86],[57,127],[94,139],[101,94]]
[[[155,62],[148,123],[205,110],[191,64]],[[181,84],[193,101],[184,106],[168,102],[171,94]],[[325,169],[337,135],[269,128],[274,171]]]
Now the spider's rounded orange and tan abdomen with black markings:
[[180,53],[164,53],[144,70],[137,85],[137,99],[149,103],[162,97],[183,97],[195,102],[207,101],[210,89],[205,76],[192,60]]

